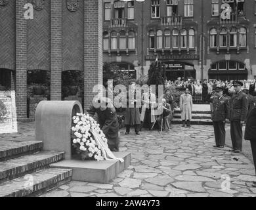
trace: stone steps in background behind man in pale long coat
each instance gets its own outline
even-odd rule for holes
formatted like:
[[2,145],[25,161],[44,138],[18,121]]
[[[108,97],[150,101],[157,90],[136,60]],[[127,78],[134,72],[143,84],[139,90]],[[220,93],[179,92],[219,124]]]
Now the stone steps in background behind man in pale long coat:
[[[174,124],[182,124],[181,121],[181,110],[175,110],[173,116]],[[211,111],[208,105],[194,104],[192,111],[192,125],[213,125],[211,121]]]

